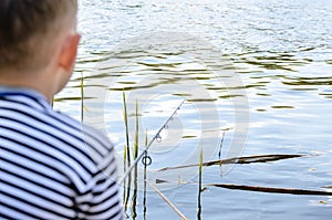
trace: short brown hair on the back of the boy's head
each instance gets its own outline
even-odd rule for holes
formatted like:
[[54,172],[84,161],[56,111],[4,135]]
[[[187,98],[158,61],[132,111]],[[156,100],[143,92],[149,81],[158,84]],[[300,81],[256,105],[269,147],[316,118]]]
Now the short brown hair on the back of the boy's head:
[[76,13],[77,0],[0,0],[0,70],[45,66],[52,40]]

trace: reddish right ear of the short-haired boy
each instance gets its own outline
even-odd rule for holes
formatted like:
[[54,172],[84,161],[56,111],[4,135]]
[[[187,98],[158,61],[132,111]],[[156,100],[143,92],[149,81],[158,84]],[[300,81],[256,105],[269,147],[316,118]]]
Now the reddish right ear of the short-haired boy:
[[76,61],[80,39],[80,34],[71,34],[63,44],[59,64],[64,71],[71,72],[73,70]]

